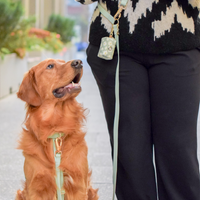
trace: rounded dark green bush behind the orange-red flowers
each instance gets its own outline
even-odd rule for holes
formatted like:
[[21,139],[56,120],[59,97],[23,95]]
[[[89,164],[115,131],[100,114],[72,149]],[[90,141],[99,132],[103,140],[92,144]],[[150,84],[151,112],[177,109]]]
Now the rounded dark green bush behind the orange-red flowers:
[[74,31],[75,21],[61,16],[52,14],[49,18],[47,30],[60,34],[60,39],[63,43],[71,41],[72,37],[75,36]]

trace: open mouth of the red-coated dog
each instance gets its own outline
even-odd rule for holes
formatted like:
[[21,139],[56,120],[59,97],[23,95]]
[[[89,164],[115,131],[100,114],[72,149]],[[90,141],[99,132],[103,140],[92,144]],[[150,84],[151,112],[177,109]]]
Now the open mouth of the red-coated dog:
[[67,93],[72,94],[74,92],[79,92],[81,90],[80,79],[81,73],[78,73],[68,85],[53,90],[53,95],[56,98],[62,98]]

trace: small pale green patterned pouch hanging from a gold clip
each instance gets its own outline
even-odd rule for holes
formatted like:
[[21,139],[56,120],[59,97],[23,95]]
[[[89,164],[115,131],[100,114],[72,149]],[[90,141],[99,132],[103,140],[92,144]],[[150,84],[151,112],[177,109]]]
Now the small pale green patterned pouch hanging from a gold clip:
[[113,37],[103,37],[98,52],[98,57],[105,60],[112,60],[115,52],[116,40]]

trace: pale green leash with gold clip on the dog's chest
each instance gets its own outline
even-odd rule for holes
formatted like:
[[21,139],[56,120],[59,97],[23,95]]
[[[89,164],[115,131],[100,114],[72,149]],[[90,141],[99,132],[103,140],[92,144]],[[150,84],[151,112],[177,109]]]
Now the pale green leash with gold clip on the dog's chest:
[[55,133],[48,138],[53,139],[53,152],[55,158],[55,167],[56,167],[56,185],[57,185],[57,200],[64,200],[65,190],[63,189],[63,171],[60,170],[59,166],[61,163],[61,149],[62,146],[62,136],[64,133]]

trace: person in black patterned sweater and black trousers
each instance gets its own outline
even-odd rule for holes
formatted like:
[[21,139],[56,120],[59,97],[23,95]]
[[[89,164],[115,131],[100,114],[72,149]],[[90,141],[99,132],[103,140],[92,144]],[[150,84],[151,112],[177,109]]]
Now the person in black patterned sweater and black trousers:
[[[112,16],[118,10],[118,0],[98,2]],[[200,200],[199,8],[199,0],[128,0],[122,11],[118,200]],[[112,60],[97,56],[101,38],[109,36],[111,28],[97,7],[87,61],[100,90],[113,146],[117,53]]]

